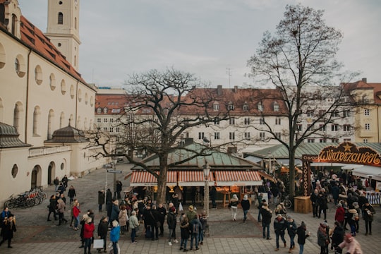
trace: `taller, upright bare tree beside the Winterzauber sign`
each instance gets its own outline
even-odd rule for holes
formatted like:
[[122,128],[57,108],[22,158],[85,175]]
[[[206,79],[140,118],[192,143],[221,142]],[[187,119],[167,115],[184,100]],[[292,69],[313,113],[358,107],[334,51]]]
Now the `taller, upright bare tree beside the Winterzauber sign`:
[[[281,95],[277,99],[286,105],[282,108],[288,121],[284,126],[286,139],[274,133],[265,111],[265,127],[261,128],[287,147],[290,183],[294,183],[292,169],[298,145],[311,137],[332,138],[336,132],[327,129],[328,124],[339,124],[353,109],[353,102],[339,86],[341,79],[349,78],[340,73],[342,64],[335,59],[342,35],[327,26],[322,16],[323,11],[301,4],[286,6],[274,35],[265,32],[255,55],[248,60],[253,77],[272,84]],[[306,119],[308,125],[301,128]],[[289,193],[295,195],[294,184],[290,184]]]

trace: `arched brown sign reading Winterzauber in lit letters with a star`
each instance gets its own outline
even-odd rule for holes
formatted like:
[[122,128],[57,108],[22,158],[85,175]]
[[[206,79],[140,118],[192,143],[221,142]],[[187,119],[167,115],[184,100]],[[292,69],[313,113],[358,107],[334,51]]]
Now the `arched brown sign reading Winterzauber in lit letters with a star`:
[[356,147],[353,143],[328,146],[320,151],[317,162],[338,162],[380,167],[381,157],[370,147]]

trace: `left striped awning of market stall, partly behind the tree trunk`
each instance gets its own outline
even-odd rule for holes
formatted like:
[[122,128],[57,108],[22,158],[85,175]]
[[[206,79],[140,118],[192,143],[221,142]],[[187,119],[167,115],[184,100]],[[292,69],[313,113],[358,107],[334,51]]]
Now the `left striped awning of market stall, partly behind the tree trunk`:
[[[168,171],[167,186],[176,186],[176,184],[177,171]],[[148,171],[133,171],[130,186],[157,186],[157,179]]]

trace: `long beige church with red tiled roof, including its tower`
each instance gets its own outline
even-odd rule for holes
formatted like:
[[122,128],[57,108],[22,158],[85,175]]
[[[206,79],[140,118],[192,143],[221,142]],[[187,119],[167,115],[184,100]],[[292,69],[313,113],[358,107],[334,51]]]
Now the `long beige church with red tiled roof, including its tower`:
[[102,164],[84,149],[96,90],[77,71],[77,4],[49,0],[47,30],[56,35],[50,40],[22,15],[17,0],[0,0],[1,205],[11,194]]

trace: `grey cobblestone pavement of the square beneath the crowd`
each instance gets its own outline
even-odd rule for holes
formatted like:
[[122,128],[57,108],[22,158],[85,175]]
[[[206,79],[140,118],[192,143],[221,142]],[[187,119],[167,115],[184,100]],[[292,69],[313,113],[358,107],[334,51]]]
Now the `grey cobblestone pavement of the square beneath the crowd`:
[[[117,169],[122,170],[123,174],[116,174],[117,179],[123,183],[123,187],[128,186],[128,180],[124,180],[124,176],[130,171],[131,165],[119,164]],[[110,180],[111,179],[111,180]],[[80,202],[81,210],[84,212],[88,209],[95,211],[95,224],[105,214],[98,212],[97,208],[97,191],[104,189],[106,180],[105,169],[97,169],[87,174],[83,178],[69,181],[68,186],[73,185],[77,193],[77,198]],[[111,186],[112,174],[108,174],[109,186]],[[112,188],[111,188],[112,190]],[[54,186],[47,188],[47,193],[54,193]],[[83,253],[80,246],[79,231],[73,231],[68,227],[68,224],[56,226],[58,221],[47,222],[47,205],[49,200],[44,200],[41,205],[27,209],[13,209],[16,214],[16,224],[18,231],[16,232],[12,246],[6,248],[6,243],[0,246],[0,253]],[[331,204],[327,212],[327,221],[333,226],[334,207]],[[184,205],[186,209],[188,205]],[[198,210],[202,207],[198,207]],[[274,207],[271,207],[272,209]],[[360,233],[356,239],[361,243],[363,253],[379,253],[381,249],[381,208],[375,206],[376,214],[373,222],[373,235],[365,236],[365,225],[360,222]],[[308,231],[311,232],[311,237],[307,239],[304,246],[304,253],[319,253],[320,248],[317,246],[316,231],[317,226],[322,219],[313,218],[312,214],[300,214],[289,211],[296,223],[299,225],[301,221],[306,222]],[[205,239],[204,244],[200,246],[198,253],[274,253],[275,235],[271,229],[270,235],[272,240],[262,238],[262,227],[256,221],[258,210],[252,208],[248,214],[248,220],[243,223],[242,210],[238,209],[237,221],[231,219],[230,210],[219,205],[216,210],[210,210],[210,237]],[[66,219],[70,222],[70,211],[67,209],[65,214]],[[164,227],[165,231],[166,227]],[[168,230],[167,230],[168,231]],[[166,231],[166,232],[167,232]],[[142,234],[140,232],[140,234]],[[164,233],[165,236],[165,233]],[[177,234],[180,236],[179,226],[177,226]],[[288,246],[281,248],[278,253],[288,253],[289,237],[286,236]],[[131,244],[130,234],[121,236],[119,241],[121,253],[179,253],[179,243],[174,243],[173,246],[167,244],[166,237],[160,238],[159,241],[146,241],[142,236],[138,237],[137,244]],[[189,248],[189,242],[188,242]],[[92,253],[96,251],[93,250]],[[294,253],[298,253],[298,244]],[[333,251],[330,251],[333,253]]]

